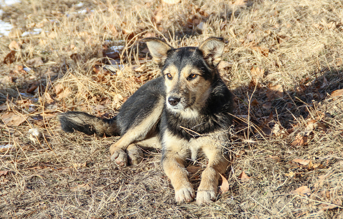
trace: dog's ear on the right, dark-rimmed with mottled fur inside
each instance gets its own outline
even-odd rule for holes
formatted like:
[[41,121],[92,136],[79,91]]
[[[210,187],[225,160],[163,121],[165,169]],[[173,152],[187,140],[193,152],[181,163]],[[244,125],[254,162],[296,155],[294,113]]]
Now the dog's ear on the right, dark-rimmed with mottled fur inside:
[[202,51],[202,55],[207,64],[209,66],[217,67],[222,60],[224,46],[224,38],[210,37],[199,46],[199,49]]

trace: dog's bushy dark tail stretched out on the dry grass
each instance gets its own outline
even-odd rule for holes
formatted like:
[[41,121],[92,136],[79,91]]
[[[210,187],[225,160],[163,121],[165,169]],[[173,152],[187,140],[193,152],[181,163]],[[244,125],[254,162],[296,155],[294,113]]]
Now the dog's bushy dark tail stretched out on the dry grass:
[[70,111],[62,113],[59,121],[63,131],[81,131],[86,135],[96,134],[98,136],[119,135],[116,116],[111,119],[99,118],[84,112]]

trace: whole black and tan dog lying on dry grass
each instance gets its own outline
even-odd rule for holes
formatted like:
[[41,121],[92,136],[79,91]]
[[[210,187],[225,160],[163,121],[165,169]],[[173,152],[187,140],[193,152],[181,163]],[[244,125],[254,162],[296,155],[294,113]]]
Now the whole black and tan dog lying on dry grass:
[[[162,76],[140,87],[111,119],[84,112],[60,115],[62,130],[87,135],[120,135],[110,146],[119,166],[138,164],[141,149],[162,149],[162,166],[175,189],[178,203],[195,197],[185,161],[198,154],[208,158],[202,172],[196,203],[216,199],[218,179],[231,160],[228,130],[232,124],[233,97],[218,71],[224,39],[210,37],[199,47],[173,48],[158,38],[145,38]],[[220,173],[220,174],[219,174]]]

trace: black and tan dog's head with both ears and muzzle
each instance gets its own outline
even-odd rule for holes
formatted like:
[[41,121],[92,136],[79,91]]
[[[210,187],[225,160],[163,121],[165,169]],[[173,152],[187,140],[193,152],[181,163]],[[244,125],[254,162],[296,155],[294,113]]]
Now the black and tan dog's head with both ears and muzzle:
[[211,93],[224,39],[210,37],[199,47],[177,49],[157,38],[145,38],[144,41],[162,70],[169,111],[187,117],[196,115]]

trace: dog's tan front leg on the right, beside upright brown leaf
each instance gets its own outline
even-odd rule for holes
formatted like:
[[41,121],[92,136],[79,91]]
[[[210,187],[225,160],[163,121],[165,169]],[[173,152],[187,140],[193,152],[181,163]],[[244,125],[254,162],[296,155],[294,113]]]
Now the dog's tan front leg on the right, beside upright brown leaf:
[[206,169],[202,172],[201,181],[197,192],[197,204],[204,206],[216,199],[218,180],[220,174],[225,174],[229,159],[223,155],[223,147],[210,143],[202,148],[209,159]]

